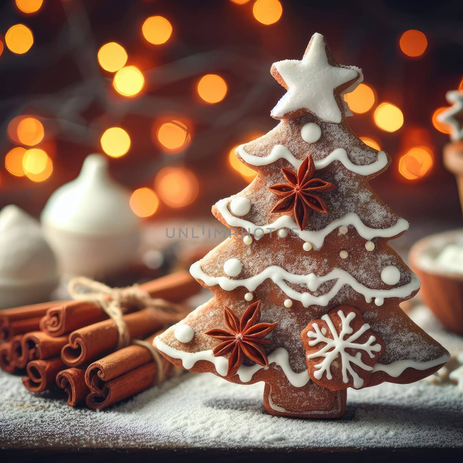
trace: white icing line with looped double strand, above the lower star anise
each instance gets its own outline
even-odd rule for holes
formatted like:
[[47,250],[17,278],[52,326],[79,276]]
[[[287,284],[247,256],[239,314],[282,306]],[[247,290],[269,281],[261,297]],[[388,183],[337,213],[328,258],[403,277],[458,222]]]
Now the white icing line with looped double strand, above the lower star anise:
[[[195,262],[190,267],[190,273],[194,278],[202,280],[206,283],[207,286],[214,286],[219,284],[220,288],[225,289],[225,291],[232,291],[233,289],[238,288],[238,286],[244,286],[249,292],[255,291],[255,289],[262,284],[267,278],[272,280],[277,284],[280,289],[291,299],[299,300],[302,302],[304,307],[311,305],[317,306],[327,306],[339,290],[344,285],[349,285],[357,293],[362,294],[365,299],[370,300],[371,298],[384,299],[387,297],[398,297],[404,298],[409,296],[419,288],[419,278],[416,275],[413,275],[412,281],[397,288],[391,289],[372,289],[363,286],[362,283],[357,282],[357,280],[347,273],[343,269],[335,268],[330,273],[322,276],[317,276],[313,273],[309,275],[295,275],[289,273],[285,269],[278,267],[276,265],[271,265],[264,269],[261,273],[251,276],[249,278],[244,278],[242,280],[232,280],[226,276],[209,276],[206,275],[202,269],[200,261]],[[314,296],[310,293],[300,293],[293,288],[290,288],[286,282],[296,283],[296,284],[306,284],[309,291],[316,291],[323,282],[329,280],[338,281],[332,287],[332,289],[321,296]]]

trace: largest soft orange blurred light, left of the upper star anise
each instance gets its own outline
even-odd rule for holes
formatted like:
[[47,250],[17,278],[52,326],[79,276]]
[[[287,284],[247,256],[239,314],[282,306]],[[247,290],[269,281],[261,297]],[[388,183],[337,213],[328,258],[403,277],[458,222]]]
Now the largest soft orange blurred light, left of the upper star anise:
[[199,193],[196,175],[184,167],[164,167],[154,180],[154,188],[161,200],[170,207],[191,204]]

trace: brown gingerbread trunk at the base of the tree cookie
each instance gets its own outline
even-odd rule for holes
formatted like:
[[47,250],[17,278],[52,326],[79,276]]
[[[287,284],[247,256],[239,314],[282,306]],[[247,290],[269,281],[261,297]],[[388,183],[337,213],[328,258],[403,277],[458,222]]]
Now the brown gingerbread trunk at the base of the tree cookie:
[[346,407],[346,391],[331,392],[313,381],[294,387],[285,375],[265,383],[263,403],[271,415],[300,418],[339,418]]

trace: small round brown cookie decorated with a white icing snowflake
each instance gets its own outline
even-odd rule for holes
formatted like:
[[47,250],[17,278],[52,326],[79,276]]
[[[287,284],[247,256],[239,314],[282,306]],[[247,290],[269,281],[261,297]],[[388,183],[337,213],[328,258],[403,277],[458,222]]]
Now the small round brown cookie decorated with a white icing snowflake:
[[301,333],[307,370],[313,382],[331,391],[368,385],[384,342],[354,307],[332,309]]

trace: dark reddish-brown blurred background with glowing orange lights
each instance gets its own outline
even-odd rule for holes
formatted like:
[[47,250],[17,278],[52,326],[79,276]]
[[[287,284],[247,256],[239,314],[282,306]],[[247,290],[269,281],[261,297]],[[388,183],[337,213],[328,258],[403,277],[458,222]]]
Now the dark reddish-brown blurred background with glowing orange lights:
[[[23,26],[10,31],[19,24],[31,31],[31,46]],[[38,217],[50,194],[78,174],[85,156],[105,146],[109,155],[124,151],[127,136],[116,138],[120,131],[109,132],[102,148],[106,129],[119,127],[130,149],[108,156],[113,177],[132,191],[146,187],[157,195],[134,197],[138,213],[154,221],[209,217],[213,203],[252,178],[233,167],[230,150],[277,123],[269,113],[284,90],[271,77],[271,64],[300,59],[317,31],[340,63],[363,69],[373,91],[373,101],[368,92],[352,96],[359,112],[348,123],[393,158],[372,182],[375,191],[415,222],[413,239],[429,227],[458,226],[455,178],[441,159],[449,138],[432,116],[448,106],[446,91],[462,80],[462,26],[459,0],[3,0],[0,206],[15,203]],[[412,32],[400,42],[409,30],[421,35]],[[103,69],[104,56],[97,58],[111,42],[126,50],[125,65],[136,67],[119,75],[119,92],[117,74]],[[137,93],[140,72],[144,86]],[[226,85],[225,98],[216,103],[200,96],[198,82],[208,74],[221,79],[203,82],[206,99],[223,97]],[[375,109],[384,102],[403,114],[403,125],[392,132],[375,123]],[[6,159],[16,147],[23,149]],[[43,151],[30,154],[32,167],[24,175],[21,156],[31,148]]]

